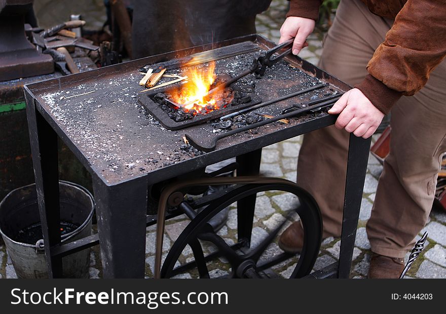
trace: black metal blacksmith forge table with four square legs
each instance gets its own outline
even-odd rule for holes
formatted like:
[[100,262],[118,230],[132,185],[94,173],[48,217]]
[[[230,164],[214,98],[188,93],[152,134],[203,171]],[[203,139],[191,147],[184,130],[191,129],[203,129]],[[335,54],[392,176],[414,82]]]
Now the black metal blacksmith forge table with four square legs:
[[[155,215],[146,215],[147,204],[150,204],[148,187],[172,178],[187,177],[195,170],[233,156],[237,156],[240,165],[238,176],[257,175],[262,147],[334,124],[336,116],[312,113],[304,118],[290,119],[289,124],[274,123],[258,132],[222,139],[216,150],[195,156],[181,152],[182,137],[185,132],[204,132],[206,136],[212,136],[210,124],[168,131],[138,104],[137,95],[141,90],[138,69],[142,66],[215,47],[244,49],[252,45],[256,45],[258,51],[273,47],[274,43],[258,35],[249,35],[25,87],[35,181],[51,278],[61,277],[63,256],[97,244],[100,245],[105,278],[143,278],[146,226],[156,223]],[[252,52],[252,49],[248,51]],[[247,52],[239,53],[231,55],[235,58],[232,74],[241,69],[237,68],[237,58],[243,59]],[[340,91],[350,88],[298,57],[289,56],[286,62],[293,73],[318,77]],[[290,93],[293,86],[299,85],[294,79],[280,80],[274,73],[274,67],[267,69],[265,76],[256,81],[256,91],[264,100]],[[276,84],[275,87],[271,87],[272,84]],[[280,106],[270,105],[267,112],[277,115],[280,113],[277,110],[295,102],[296,99],[290,99]],[[98,234],[64,245],[60,244],[59,232],[58,136],[93,177],[98,223]],[[369,147],[369,139],[350,136],[339,262],[310,274],[310,277],[349,276]],[[253,196],[244,200],[243,208],[254,207]],[[240,208],[242,206],[238,206],[239,238],[243,232],[250,234],[250,229],[240,229],[244,223],[249,224]],[[252,226],[252,219],[250,223]]]

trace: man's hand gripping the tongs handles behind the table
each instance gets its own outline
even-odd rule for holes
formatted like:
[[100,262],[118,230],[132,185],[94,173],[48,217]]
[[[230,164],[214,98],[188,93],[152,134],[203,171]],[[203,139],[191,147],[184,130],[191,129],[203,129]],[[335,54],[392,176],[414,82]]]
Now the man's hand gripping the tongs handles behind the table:
[[313,32],[315,21],[304,17],[290,16],[287,17],[280,28],[279,44],[286,42],[290,38],[294,38],[292,47],[293,55],[297,55],[302,48],[307,47],[307,37]]

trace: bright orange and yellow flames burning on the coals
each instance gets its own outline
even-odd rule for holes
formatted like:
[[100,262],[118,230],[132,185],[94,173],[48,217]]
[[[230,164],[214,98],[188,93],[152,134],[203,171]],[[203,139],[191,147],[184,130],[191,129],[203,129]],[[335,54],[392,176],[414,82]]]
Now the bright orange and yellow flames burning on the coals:
[[197,112],[208,113],[219,109],[216,104],[217,98],[221,98],[221,93],[207,95],[215,82],[214,70],[215,62],[210,62],[203,68],[190,67],[184,73],[189,77],[188,82],[180,90],[172,91],[170,99],[177,104],[187,104],[183,106],[183,110],[186,112],[195,110],[194,115]]

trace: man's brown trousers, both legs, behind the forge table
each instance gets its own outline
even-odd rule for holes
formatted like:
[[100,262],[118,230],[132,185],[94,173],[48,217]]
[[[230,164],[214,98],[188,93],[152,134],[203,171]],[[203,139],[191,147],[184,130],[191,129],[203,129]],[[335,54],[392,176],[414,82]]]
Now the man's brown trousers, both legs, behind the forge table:
[[[359,0],[341,2],[324,42],[320,66],[350,85],[384,41],[392,20],[370,13]],[[446,151],[446,63],[415,96],[391,110],[391,147],[366,229],[375,253],[404,257],[424,227],[434,199],[440,158]],[[348,133],[334,126],[305,135],[298,184],[310,191],[323,216],[324,237],[341,234]]]

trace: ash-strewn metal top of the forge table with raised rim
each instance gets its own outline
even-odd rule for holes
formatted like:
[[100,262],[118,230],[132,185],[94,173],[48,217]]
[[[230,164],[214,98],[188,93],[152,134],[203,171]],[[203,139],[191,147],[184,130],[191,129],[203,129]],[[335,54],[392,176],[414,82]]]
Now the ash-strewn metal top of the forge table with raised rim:
[[[178,59],[228,47],[231,56],[217,60],[216,71],[234,76],[246,69],[253,56],[273,46],[265,37],[253,34],[27,85],[25,95],[28,103],[34,101],[36,109],[84,166],[107,185],[147,174],[148,183],[156,183],[334,123],[335,117],[323,111],[311,113],[292,118],[289,124],[276,122],[255,132],[222,139],[215,151],[196,155],[181,151],[185,133],[205,138],[224,131],[215,130],[210,123],[167,130],[138,103],[138,70],[147,64],[164,64],[168,71],[180,73]],[[237,51],[238,47],[244,48]],[[263,101],[321,82],[329,83],[333,90],[349,89],[337,78],[295,56],[267,69],[260,80],[250,75],[246,80],[255,82],[256,96]],[[144,93],[139,95],[144,97]],[[318,91],[256,111],[278,115],[285,107],[314,95]]]

